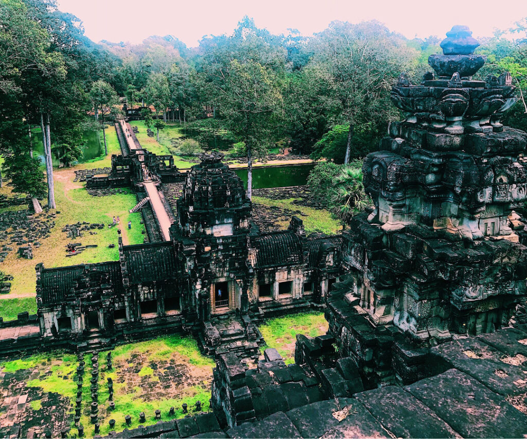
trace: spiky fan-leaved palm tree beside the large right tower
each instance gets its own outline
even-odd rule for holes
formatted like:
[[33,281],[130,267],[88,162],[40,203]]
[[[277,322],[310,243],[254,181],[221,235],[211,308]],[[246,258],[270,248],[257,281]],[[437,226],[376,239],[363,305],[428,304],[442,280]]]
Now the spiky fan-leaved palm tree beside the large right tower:
[[334,183],[330,210],[346,225],[353,216],[370,206],[372,200],[364,192],[360,168],[343,168],[335,177]]

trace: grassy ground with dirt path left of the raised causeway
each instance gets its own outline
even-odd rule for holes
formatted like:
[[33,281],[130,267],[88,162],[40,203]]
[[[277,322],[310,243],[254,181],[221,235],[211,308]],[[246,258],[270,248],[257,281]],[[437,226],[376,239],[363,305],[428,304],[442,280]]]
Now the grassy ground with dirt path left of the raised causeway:
[[[38,262],[44,262],[46,268],[52,268],[119,260],[116,228],[96,229],[94,230],[96,235],[90,235],[88,231],[83,231],[83,236],[75,238],[73,241],[81,242],[82,245],[97,245],[97,248],[86,249],[79,255],[66,257],[65,246],[72,239],[67,238],[66,233],[62,231],[64,226],[79,221],[108,225],[114,216],[119,216],[123,242],[125,244],[143,242],[142,230],[144,226],[140,224],[141,214],[129,213],[129,210],[137,203],[136,197],[131,191],[126,190],[126,193],[105,197],[93,197],[86,192],[85,183],[73,182],[75,170],[103,168],[111,165],[111,155],[120,152],[119,141],[113,126],[106,130],[106,140],[108,142],[108,156],[90,163],[77,164],[73,168],[54,170],[55,201],[57,211],[60,211],[60,214],[56,216],[55,227],[51,230],[51,236],[41,240],[39,248],[33,249],[33,259],[19,258],[16,251],[12,251],[0,264],[2,271],[14,277],[11,292],[0,298],[0,316],[4,320],[16,318],[16,315],[22,311],[35,312],[35,265]],[[0,189],[0,193],[10,194],[11,188],[6,185]],[[25,205],[19,207],[19,209],[26,208]],[[125,227],[129,219],[132,220],[133,225],[131,230]],[[115,244],[115,247],[108,248],[108,245],[112,243]],[[16,246],[13,245],[12,247]]]

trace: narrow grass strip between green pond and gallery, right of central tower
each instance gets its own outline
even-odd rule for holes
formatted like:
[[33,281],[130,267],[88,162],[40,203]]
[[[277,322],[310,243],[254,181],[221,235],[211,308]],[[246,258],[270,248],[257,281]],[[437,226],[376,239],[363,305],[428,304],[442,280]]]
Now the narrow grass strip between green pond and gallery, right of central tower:
[[[262,204],[267,207],[278,207],[280,209],[287,209],[291,211],[300,211],[307,216],[302,216],[301,219],[304,222],[304,227],[307,233],[320,232],[326,233],[326,235],[332,235],[337,233],[342,229],[340,222],[333,217],[325,209],[314,209],[312,207],[298,206],[297,204],[292,204],[295,201],[295,198],[288,198],[282,200],[271,200],[266,197],[252,197],[252,202],[254,204]],[[283,223],[279,224],[281,228],[287,228],[289,220],[282,221]]]

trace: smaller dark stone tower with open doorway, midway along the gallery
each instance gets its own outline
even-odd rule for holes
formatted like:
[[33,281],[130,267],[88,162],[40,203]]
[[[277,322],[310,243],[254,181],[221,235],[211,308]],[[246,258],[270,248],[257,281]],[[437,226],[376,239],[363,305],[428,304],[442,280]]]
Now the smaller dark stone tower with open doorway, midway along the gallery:
[[171,227],[200,320],[248,307],[251,203],[222,158],[221,153],[200,155],[177,203],[178,223]]

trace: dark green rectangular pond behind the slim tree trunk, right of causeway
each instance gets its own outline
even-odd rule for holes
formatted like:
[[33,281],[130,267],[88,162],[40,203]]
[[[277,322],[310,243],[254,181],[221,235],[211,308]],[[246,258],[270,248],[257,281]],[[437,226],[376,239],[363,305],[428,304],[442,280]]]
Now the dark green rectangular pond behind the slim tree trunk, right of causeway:
[[[252,168],[252,188],[302,186],[307,183],[307,176],[314,167],[315,163]],[[235,169],[234,171],[242,179],[247,189],[247,169]]]

